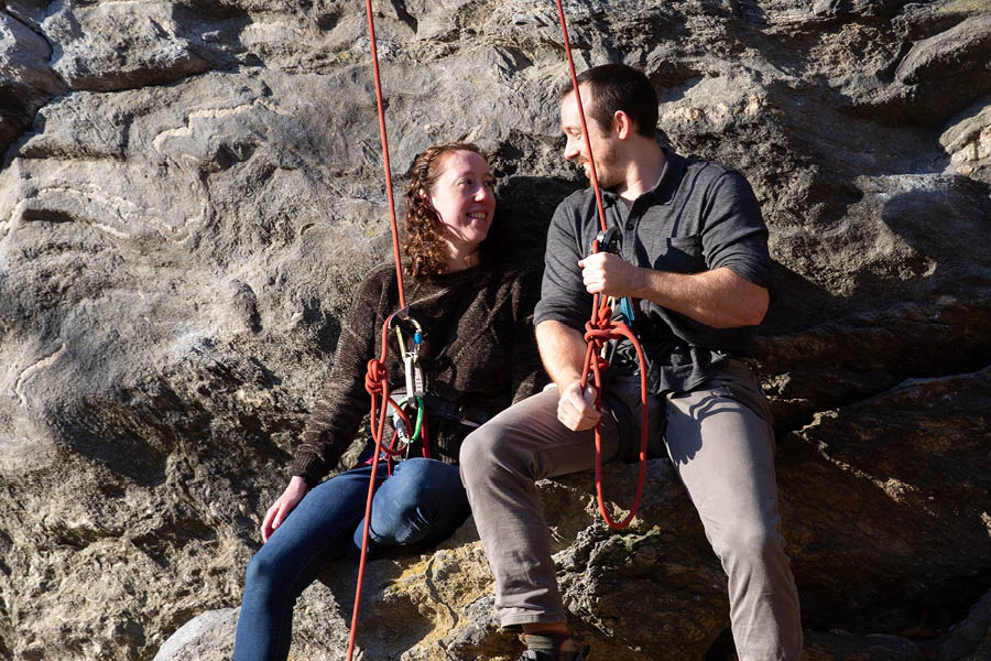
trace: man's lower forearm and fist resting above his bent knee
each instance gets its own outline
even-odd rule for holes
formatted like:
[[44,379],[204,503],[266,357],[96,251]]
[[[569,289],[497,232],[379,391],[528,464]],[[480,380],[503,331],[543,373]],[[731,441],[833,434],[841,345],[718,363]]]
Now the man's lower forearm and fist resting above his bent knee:
[[536,337],[544,368],[557,386],[557,419],[574,432],[596,426],[601,415],[596,409],[596,389],[589,384],[581,391],[585,337],[567,324],[549,319],[537,324]]

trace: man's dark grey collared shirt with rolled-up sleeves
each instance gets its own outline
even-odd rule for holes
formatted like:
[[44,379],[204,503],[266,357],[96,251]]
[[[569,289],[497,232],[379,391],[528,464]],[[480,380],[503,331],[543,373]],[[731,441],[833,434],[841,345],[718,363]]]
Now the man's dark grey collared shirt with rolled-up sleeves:
[[[767,228],[747,180],[667,149],[664,155],[657,185],[629,209],[619,195],[602,191],[606,221],[622,234],[622,257],[638,267],[677,273],[726,267],[770,290]],[[585,332],[592,297],[581,283],[578,260],[589,253],[599,229],[591,188],[573,193],[557,206],[547,232],[534,324],[554,319]],[[729,356],[748,354],[751,328],[712,328],[650,301],[634,303],[633,329],[650,364],[652,393],[690,390],[715,376]],[[624,340],[613,369],[630,372],[635,364],[635,353]]]

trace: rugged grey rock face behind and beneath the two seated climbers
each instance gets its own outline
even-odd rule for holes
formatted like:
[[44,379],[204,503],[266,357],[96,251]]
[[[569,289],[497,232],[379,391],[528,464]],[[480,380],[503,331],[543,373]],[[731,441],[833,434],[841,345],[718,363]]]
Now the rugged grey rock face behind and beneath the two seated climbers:
[[[566,11],[579,68],[642,67],[674,149],[761,201],[806,655],[988,658],[991,2]],[[554,4],[377,12],[398,188],[428,144],[477,141],[540,259],[585,185]],[[390,252],[363,7],[9,0],[0,145],[0,658],[228,658],[258,521]],[[607,469],[620,507],[634,475]],[[590,475],[543,494],[596,658],[730,658],[725,578],[665,462],[622,533]],[[471,523],[422,551],[371,563],[362,658],[519,655]],[[296,658],[342,658],[353,572],[304,594]]]

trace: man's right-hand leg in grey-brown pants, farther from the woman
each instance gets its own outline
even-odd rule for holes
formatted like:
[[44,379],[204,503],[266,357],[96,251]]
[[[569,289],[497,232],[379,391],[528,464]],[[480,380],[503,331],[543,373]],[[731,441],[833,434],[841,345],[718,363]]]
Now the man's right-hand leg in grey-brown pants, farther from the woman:
[[729,577],[741,661],[798,659],[798,593],[781,535],[771,413],[755,376],[731,361],[703,388],[668,395],[665,412],[671,458]]

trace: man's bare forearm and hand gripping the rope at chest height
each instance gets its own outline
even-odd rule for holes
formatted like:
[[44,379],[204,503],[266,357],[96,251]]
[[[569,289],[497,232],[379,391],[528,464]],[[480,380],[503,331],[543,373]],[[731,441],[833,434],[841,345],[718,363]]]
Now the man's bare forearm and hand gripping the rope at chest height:
[[726,267],[673,273],[634,267],[608,252],[591,254],[578,266],[591,294],[646,299],[714,328],[755,326],[770,303],[765,288]]

